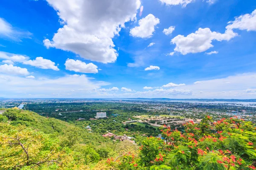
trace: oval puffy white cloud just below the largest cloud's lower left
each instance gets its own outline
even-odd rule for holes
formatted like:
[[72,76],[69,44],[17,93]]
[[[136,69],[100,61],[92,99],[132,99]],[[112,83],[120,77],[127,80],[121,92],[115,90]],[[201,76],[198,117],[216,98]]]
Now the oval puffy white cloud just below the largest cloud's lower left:
[[86,64],[80,60],[67,59],[65,62],[67,70],[76,71],[80,73],[98,73],[97,66],[93,63]]

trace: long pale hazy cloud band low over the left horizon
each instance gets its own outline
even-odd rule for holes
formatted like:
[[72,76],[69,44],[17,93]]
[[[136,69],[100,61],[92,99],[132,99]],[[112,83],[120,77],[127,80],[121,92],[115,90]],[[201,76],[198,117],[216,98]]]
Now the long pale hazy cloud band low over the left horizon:
[[[110,85],[108,82],[96,81],[85,75],[77,74],[50,79],[46,77],[27,79],[25,77],[0,74],[0,79],[0,94],[5,94],[9,97],[34,97],[39,91],[45,97],[90,98],[99,96],[97,94],[99,92],[93,91],[93,88],[99,89],[102,86]],[[78,89],[82,89],[82,91]],[[75,91],[71,94],[71,90]],[[24,95],[17,94],[18,92],[23,92]],[[27,94],[32,94],[32,96]]]

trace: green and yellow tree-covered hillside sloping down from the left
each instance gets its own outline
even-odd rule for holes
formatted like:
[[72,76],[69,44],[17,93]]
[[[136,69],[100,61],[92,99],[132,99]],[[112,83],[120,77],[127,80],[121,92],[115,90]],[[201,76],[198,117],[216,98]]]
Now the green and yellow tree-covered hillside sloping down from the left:
[[0,115],[1,170],[97,169],[97,162],[118,156],[122,144],[30,111],[9,109]]

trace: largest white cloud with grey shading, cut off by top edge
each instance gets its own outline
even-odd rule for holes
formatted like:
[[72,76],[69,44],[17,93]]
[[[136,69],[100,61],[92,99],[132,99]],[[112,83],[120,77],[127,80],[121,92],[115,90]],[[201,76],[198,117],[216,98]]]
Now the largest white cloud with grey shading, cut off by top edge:
[[136,18],[140,0],[47,0],[64,23],[44,45],[72,51],[93,61],[115,62],[118,56],[112,38],[125,23]]

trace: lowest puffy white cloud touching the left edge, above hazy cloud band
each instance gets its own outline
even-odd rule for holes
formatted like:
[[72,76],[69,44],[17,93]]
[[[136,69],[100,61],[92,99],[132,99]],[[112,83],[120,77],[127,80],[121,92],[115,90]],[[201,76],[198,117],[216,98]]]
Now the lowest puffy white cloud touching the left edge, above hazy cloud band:
[[0,72],[5,74],[18,74],[18,75],[28,75],[29,72],[26,68],[20,68],[13,66],[12,64],[0,65]]

